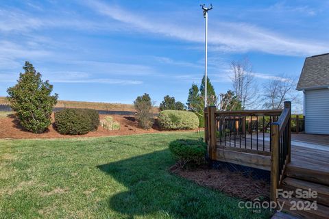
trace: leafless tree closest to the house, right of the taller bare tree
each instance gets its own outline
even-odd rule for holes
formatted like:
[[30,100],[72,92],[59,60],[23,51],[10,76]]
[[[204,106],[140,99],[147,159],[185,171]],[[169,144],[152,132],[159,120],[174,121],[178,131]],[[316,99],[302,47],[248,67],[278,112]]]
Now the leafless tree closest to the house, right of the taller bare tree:
[[296,80],[287,75],[272,77],[264,84],[263,107],[277,110],[284,107],[284,101],[299,103],[295,87]]

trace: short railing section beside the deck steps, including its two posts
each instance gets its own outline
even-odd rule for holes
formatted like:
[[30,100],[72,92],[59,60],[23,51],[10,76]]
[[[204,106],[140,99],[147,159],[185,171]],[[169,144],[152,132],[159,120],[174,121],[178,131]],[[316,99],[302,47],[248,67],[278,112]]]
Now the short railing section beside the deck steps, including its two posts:
[[282,183],[289,162],[291,162],[291,102],[286,101],[278,121],[271,123],[271,201],[276,201],[276,190]]

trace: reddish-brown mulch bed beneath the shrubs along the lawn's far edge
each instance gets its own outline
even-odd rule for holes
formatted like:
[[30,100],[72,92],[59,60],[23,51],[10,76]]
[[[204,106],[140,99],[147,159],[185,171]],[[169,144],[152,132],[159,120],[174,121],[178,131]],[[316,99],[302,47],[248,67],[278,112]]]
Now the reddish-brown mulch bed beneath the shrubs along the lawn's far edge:
[[[109,115],[99,115],[102,119]],[[91,131],[86,135],[82,136],[67,136],[58,133],[53,127],[53,115],[51,116],[52,124],[48,127],[45,133],[35,134],[29,131],[25,131],[21,125],[19,125],[19,120],[16,119],[14,115],[9,115],[6,117],[0,117],[0,138],[9,139],[25,139],[25,138],[77,138],[77,137],[101,137],[101,136],[124,136],[132,135],[138,133],[158,133],[161,131],[158,125],[154,125],[151,129],[145,130],[138,127],[138,122],[134,116],[120,116],[120,115],[110,115],[114,120],[120,123],[120,130],[107,130],[99,126],[97,131]],[[199,131],[199,130],[192,130]]]

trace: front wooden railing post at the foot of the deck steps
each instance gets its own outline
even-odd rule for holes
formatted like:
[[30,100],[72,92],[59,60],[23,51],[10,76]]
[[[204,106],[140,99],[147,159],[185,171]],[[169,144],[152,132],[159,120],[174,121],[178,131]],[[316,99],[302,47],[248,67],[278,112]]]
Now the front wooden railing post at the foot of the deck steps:
[[276,190],[279,182],[279,142],[278,123],[271,123],[271,201],[276,201]]

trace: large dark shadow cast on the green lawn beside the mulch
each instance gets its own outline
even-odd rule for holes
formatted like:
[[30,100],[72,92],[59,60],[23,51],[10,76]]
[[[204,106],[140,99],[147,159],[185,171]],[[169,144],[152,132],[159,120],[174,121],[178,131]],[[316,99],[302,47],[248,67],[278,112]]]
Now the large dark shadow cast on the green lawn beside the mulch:
[[171,175],[169,150],[97,166],[127,188],[108,199],[110,209],[151,218],[268,218],[239,209],[239,200]]

